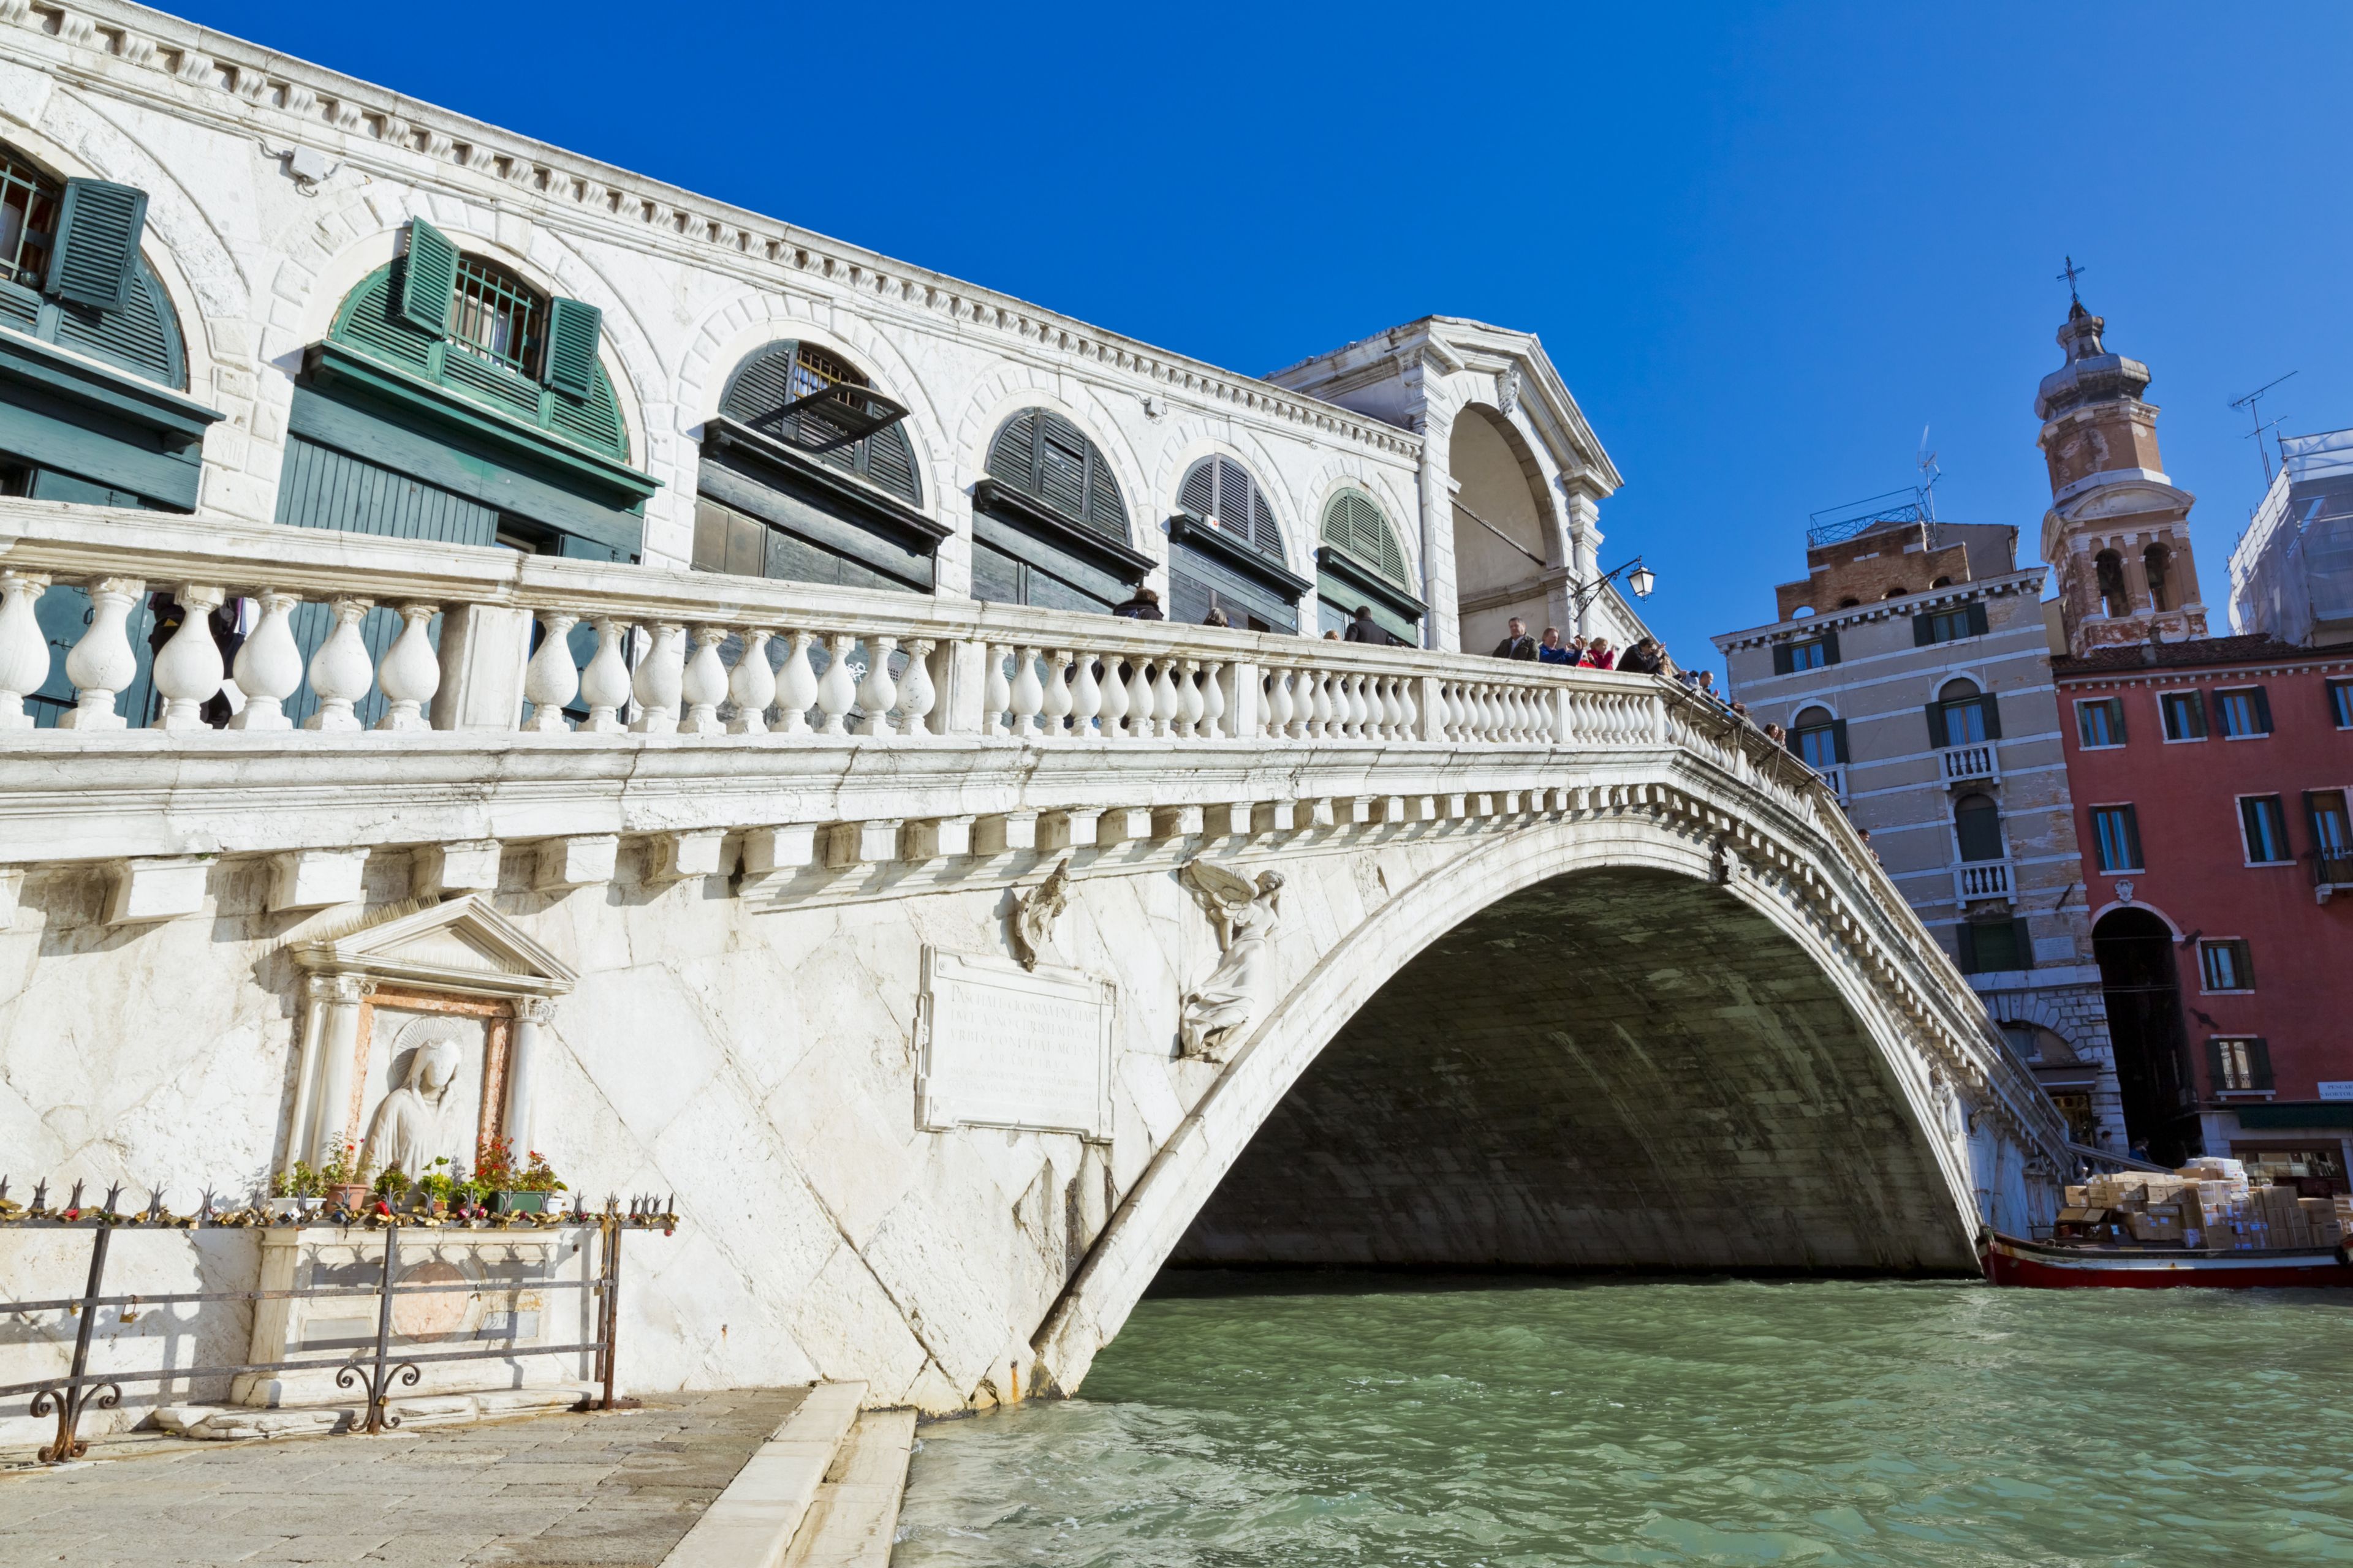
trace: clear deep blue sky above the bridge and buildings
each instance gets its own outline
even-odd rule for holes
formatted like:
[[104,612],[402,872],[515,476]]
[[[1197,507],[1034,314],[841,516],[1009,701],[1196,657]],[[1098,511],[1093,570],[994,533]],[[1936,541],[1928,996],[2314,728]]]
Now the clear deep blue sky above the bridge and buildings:
[[2214,630],[2261,494],[2224,404],[2299,369],[2287,428],[2353,425],[2348,7],[179,9],[1242,371],[1532,329],[1689,663],[1922,423],[1939,510],[2033,552],[2064,254],[2155,371]]

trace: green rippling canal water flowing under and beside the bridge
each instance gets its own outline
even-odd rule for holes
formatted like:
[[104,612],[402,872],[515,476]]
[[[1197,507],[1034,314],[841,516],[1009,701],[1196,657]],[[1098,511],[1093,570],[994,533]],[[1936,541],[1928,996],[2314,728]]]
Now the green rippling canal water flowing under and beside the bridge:
[[2353,1561],[2337,1295],[1172,1274],[892,1563]]

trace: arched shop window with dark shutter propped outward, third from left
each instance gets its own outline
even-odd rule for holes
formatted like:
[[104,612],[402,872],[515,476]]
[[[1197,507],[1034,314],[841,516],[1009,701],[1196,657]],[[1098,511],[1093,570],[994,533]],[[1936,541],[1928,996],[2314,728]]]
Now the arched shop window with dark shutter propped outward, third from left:
[[906,407],[814,343],[769,343],[704,425],[694,567],[932,592],[948,529],[922,515]]

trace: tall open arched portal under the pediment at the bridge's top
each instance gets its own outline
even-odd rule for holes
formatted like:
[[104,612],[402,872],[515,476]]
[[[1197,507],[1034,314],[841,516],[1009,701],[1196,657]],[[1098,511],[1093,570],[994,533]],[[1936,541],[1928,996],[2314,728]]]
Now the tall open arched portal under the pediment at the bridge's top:
[[[1541,473],[1520,433],[1485,407],[1454,421],[1447,447],[1454,484],[1454,607],[1461,646],[1485,654],[1513,616],[1537,637],[1546,628],[1546,571],[1562,564]],[[1562,628],[1574,630],[1574,628]]]

